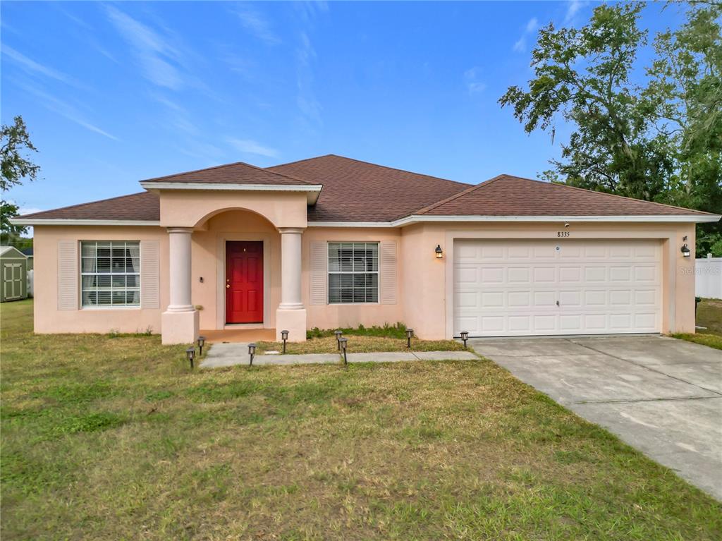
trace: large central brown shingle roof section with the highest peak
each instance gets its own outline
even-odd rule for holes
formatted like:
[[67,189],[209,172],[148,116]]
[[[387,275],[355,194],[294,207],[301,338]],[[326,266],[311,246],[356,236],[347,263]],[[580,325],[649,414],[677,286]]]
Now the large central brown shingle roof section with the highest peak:
[[469,187],[333,154],[269,170],[323,184],[309,222],[388,222]]

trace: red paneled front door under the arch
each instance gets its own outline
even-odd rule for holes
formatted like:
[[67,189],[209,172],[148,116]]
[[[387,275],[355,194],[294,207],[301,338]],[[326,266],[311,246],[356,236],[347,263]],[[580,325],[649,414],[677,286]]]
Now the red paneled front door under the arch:
[[263,242],[226,242],[225,287],[226,323],[263,323]]

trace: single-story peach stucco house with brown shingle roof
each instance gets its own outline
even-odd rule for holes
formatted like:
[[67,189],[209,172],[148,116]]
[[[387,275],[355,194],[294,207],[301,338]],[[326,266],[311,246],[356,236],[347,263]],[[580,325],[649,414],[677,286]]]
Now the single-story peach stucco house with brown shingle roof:
[[404,321],[427,339],[695,332],[696,210],[326,155],[37,212],[35,332]]

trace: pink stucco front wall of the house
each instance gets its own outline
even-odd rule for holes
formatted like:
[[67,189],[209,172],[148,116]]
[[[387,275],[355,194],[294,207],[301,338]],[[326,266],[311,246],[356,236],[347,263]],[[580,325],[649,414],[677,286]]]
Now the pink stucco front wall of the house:
[[[289,198],[293,206],[298,200]],[[205,212],[200,210],[199,213]],[[204,214],[203,216],[206,216]],[[278,220],[282,217],[277,216]],[[191,217],[190,220],[195,220]],[[295,211],[291,220],[297,220]],[[222,247],[225,240],[263,240],[267,243],[266,321],[274,328],[280,302],[280,235],[265,217],[249,210],[231,210],[201,220],[192,235],[192,300],[202,306],[201,329],[222,328]],[[559,223],[487,222],[477,224],[426,223],[405,228],[314,228],[302,237],[302,292],[307,326],[382,325],[404,321],[420,337],[451,336],[450,318],[453,242],[456,238],[555,238]],[[694,251],[695,226],[675,223],[578,223],[574,238],[650,238],[663,249],[663,331],[694,332],[694,258],[679,252],[682,238]],[[58,311],[58,241],[157,240],[160,242],[160,308],[82,309]],[[309,302],[309,257],[313,241],[396,241],[398,249],[397,303],[316,306]],[[436,259],[440,244],[444,258]],[[159,227],[38,226],[35,228],[35,332],[160,332],[160,316],[168,306],[168,234]],[[200,278],[203,277],[203,282]],[[220,287],[219,287],[220,286]]]

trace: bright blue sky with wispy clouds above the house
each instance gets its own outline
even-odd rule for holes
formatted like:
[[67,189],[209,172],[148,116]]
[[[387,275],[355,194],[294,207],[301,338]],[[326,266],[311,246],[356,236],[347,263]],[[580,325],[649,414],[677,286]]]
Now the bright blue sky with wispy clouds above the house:
[[[584,1],[3,2],[1,121],[40,153],[25,212],[140,191],[144,178],[323,154],[478,183],[557,157],[497,100],[531,76],[540,25]],[[656,4],[642,26],[678,17]]]

